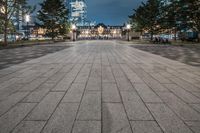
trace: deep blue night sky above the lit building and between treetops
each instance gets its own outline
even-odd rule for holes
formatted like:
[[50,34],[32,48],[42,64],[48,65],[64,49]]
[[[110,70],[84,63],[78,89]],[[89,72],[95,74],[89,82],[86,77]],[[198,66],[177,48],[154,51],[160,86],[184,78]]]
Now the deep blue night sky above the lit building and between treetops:
[[[34,5],[43,0],[29,0]],[[137,8],[146,0],[85,0],[87,4],[87,18],[106,25],[122,25],[127,22],[132,9]],[[38,5],[39,8],[39,5]]]

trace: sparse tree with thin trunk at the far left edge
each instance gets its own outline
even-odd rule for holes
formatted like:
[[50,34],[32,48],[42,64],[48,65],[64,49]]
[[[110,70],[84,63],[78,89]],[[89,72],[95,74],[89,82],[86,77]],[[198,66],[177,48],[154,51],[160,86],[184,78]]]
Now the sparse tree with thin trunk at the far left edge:
[[31,9],[27,6],[26,0],[0,0],[0,23],[4,34],[4,45],[7,45],[9,29],[13,27],[13,19],[17,11],[28,12]]

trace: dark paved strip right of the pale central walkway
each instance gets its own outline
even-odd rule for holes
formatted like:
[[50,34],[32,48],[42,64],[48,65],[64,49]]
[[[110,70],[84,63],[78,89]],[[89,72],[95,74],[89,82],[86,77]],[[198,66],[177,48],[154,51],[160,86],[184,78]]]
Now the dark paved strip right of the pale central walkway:
[[200,67],[200,45],[132,45],[132,47],[163,57],[177,60],[188,65]]

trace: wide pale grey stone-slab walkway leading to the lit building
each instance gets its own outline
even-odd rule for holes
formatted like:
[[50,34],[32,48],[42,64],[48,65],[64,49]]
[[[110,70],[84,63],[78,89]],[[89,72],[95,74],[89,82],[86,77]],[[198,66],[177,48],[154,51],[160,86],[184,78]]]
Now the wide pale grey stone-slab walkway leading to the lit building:
[[0,133],[199,133],[200,68],[90,41],[0,70]]

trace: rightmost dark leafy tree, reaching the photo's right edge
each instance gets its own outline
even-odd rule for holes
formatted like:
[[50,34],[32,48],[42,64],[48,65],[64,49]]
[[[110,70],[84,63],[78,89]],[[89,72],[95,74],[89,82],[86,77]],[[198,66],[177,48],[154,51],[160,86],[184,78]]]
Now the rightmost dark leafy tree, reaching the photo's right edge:
[[174,29],[175,34],[190,29],[199,31],[199,6],[199,0],[170,0],[169,4],[162,7],[163,20],[165,20],[161,23],[162,26]]

